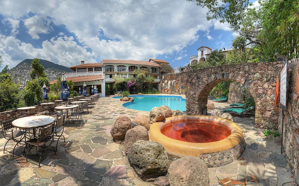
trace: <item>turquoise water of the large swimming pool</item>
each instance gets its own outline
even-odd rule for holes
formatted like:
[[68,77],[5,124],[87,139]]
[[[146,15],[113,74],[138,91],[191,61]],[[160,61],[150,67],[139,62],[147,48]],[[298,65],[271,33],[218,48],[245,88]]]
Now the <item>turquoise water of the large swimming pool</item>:
[[186,111],[186,100],[179,96],[136,95],[131,97],[134,97],[134,102],[124,103],[124,107],[141,111],[150,111],[153,107],[165,105],[171,110]]

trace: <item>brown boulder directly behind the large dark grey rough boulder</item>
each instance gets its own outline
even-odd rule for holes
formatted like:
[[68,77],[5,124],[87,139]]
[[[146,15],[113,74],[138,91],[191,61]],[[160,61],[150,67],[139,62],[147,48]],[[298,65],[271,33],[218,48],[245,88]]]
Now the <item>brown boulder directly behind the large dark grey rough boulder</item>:
[[135,143],[138,140],[149,140],[149,134],[147,132],[147,129],[143,126],[136,126],[132,129],[129,129],[125,136],[125,141],[123,143],[125,154],[128,154],[130,148],[132,147],[133,143]]

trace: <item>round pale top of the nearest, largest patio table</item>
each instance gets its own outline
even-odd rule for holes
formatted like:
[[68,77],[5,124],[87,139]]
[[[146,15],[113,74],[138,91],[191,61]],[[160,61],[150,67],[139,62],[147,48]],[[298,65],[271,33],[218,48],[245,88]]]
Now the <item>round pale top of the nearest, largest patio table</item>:
[[13,120],[12,125],[16,128],[39,128],[50,125],[55,121],[51,116],[28,116]]

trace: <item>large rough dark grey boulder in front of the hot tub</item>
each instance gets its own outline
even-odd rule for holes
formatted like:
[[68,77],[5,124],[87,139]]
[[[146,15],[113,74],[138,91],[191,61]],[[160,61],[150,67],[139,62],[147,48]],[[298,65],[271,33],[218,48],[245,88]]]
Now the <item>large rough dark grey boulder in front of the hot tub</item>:
[[136,141],[129,150],[128,160],[143,179],[164,176],[169,167],[167,152],[158,142]]

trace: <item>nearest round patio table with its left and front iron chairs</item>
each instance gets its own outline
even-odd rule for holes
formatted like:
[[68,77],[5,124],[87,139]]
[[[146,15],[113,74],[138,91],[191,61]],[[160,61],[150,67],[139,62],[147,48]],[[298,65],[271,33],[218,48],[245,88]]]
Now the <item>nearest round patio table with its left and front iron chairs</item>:
[[[23,108],[21,110],[26,110],[26,108]],[[16,146],[19,145],[25,145],[25,148],[30,147],[26,155],[26,162],[28,162],[28,154],[31,148],[36,147],[37,155],[38,149],[42,150],[42,154],[40,155],[38,164],[40,167],[42,155],[46,150],[54,151],[56,154],[55,148],[51,146],[53,142],[52,134],[54,122],[54,117],[40,115],[21,117],[18,119],[11,119],[0,123],[1,131],[3,133],[4,138],[7,139],[7,142],[9,142],[10,140],[16,142],[16,145],[14,146],[12,152],[13,156]],[[46,145],[46,143],[49,141],[51,141],[51,143],[49,145]],[[4,145],[4,152],[6,144]]]

